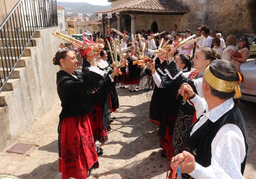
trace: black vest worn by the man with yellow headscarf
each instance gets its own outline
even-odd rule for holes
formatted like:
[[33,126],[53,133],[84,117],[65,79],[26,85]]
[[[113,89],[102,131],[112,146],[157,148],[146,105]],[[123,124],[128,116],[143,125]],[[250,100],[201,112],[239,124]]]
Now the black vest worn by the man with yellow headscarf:
[[[195,161],[198,164],[201,164],[204,167],[208,167],[211,164],[211,143],[213,141],[213,138],[219,131],[219,128],[228,123],[235,124],[242,131],[245,139],[247,155],[248,136],[246,132],[246,125],[239,108],[237,106],[234,106],[230,111],[220,117],[215,123],[211,122],[208,119],[190,137],[188,136],[186,150],[194,155]],[[191,126],[191,128],[189,129],[188,135],[191,133],[193,126]],[[241,164],[241,174],[244,173],[245,165],[246,157]]]

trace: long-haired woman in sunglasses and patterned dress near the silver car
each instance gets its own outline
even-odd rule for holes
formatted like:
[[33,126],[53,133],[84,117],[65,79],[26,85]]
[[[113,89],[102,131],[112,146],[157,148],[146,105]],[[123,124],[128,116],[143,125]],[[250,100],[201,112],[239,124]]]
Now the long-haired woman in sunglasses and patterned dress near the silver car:
[[235,56],[230,57],[230,62],[235,65],[237,71],[239,71],[240,65],[248,59],[250,56],[250,45],[246,36],[239,38],[238,42],[238,52],[241,54],[241,58],[236,58]]

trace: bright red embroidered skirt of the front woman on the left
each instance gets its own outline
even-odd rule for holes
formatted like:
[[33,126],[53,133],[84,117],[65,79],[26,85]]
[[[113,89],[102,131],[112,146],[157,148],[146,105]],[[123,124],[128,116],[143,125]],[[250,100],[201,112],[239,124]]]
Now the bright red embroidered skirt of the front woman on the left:
[[62,179],[86,179],[89,169],[99,168],[94,137],[87,115],[64,118],[60,130],[59,172]]

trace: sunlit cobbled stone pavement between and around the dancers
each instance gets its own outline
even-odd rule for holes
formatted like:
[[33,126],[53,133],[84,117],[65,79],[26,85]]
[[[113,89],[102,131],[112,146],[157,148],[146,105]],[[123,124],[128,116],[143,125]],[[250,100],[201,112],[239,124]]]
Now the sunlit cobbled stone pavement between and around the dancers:
[[[116,120],[111,124],[109,140],[101,144],[104,154],[99,156],[100,167],[92,171],[89,179],[166,179],[168,161],[160,156],[158,126],[149,120],[152,92],[116,89],[120,107],[112,114]],[[250,118],[255,119],[255,109],[251,107]],[[21,134],[16,143],[33,144],[25,154],[0,153],[0,173],[22,179],[61,179],[57,163],[60,111],[59,102]],[[247,120],[246,124],[250,146],[244,178],[256,179],[256,122]]]

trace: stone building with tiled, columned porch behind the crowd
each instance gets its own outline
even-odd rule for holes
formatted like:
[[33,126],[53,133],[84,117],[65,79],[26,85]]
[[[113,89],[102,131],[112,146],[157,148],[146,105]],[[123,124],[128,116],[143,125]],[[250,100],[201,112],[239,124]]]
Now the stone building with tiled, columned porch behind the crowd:
[[[202,25],[223,36],[256,33],[255,0],[108,0],[111,8],[102,14],[101,30],[108,25],[123,31],[168,31],[177,24],[178,31],[193,33]],[[107,13],[112,18],[107,19]]]

